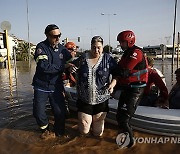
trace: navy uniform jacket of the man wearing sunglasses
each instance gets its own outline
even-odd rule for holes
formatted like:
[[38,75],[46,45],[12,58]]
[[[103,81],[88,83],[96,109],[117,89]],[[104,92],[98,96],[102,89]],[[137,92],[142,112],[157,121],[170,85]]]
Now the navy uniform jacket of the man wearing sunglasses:
[[37,63],[32,83],[34,88],[54,91],[58,85],[62,86],[62,73],[66,62],[71,58],[71,54],[63,45],[58,44],[56,48],[52,48],[48,40],[40,42],[34,55]]

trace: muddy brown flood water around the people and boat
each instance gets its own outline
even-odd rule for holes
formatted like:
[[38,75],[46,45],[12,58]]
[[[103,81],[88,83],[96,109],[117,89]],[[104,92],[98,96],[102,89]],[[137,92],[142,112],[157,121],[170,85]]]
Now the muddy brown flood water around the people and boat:
[[[171,61],[158,60],[155,67],[166,77],[168,89],[172,85]],[[31,86],[35,63],[31,69],[27,62],[17,62],[17,77],[12,68],[11,76],[7,69],[0,69],[0,154],[109,154],[109,153],[179,153],[180,142],[138,143],[131,149],[121,150],[115,144],[117,126],[106,123],[102,138],[80,137],[77,130],[77,114],[72,113],[66,121],[67,136],[51,140],[40,139],[36,121],[32,116],[33,89]],[[53,116],[48,110],[50,123]],[[137,137],[161,137],[135,131]]]

